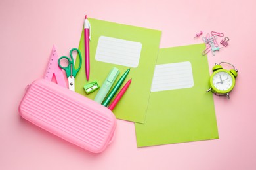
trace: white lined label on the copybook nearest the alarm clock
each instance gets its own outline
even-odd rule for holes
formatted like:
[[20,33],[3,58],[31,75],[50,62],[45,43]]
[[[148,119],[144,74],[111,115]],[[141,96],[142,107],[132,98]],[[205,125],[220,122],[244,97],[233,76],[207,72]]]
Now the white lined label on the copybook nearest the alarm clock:
[[190,62],[156,65],[151,92],[192,88],[194,86]]

